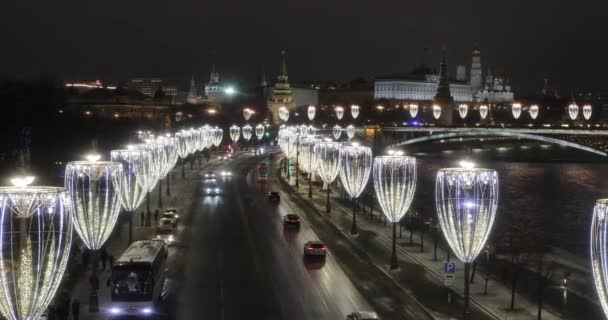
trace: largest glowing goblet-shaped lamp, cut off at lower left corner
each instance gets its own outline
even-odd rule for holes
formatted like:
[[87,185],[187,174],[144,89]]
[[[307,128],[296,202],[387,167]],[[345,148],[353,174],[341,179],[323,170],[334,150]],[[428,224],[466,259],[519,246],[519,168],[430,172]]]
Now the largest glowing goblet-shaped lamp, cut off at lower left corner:
[[67,191],[29,186],[33,177],[0,187],[0,312],[6,319],[40,319],[59,288],[72,246]]

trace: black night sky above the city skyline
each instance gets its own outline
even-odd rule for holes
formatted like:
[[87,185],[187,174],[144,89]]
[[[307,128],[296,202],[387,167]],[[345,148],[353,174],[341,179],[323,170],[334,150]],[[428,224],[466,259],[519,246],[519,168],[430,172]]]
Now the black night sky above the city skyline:
[[[59,79],[162,77],[186,86],[274,79],[282,49],[292,80],[348,81],[406,72],[443,44],[450,72],[482,62],[517,93],[549,77],[562,90],[608,91],[604,1],[7,0],[0,3],[0,74]],[[212,51],[217,50],[214,57]],[[485,68],[485,67],[484,67]]]

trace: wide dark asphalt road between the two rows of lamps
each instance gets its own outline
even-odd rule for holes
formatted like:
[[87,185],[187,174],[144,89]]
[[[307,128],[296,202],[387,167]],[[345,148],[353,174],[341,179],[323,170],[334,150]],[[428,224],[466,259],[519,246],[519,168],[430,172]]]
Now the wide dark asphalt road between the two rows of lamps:
[[178,319],[344,319],[371,307],[357,291],[331,247],[325,260],[304,261],[302,249],[317,239],[304,220],[299,231],[283,229],[293,204],[266,200],[267,184],[253,170],[259,157],[244,157],[213,170],[231,170],[219,179],[221,196],[194,202],[191,236]]

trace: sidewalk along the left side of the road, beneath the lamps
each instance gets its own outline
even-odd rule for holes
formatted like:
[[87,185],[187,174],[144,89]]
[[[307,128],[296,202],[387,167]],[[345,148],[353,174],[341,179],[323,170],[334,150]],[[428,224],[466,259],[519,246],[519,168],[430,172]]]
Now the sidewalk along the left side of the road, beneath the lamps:
[[[195,187],[198,184],[199,181],[199,177],[198,177],[198,173],[201,170],[204,170],[204,168],[206,168],[208,165],[215,163],[216,161],[203,161],[202,162],[202,167],[198,166],[198,161],[196,161],[194,163],[194,168],[190,169],[190,164],[186,164],[185,167],[185,172],[186,172],[186,178],[183,179],[181,176],[181,165],[177,165],[172,173],[173,175],[173,179],[171,179],[171,197],[167,197],[166,194],[166,184],[163,181],[163,185],[162,185],[162,202],[163,202],[163,208],[177,208],[179,210],[179,213],[181,215],[181,221],[182,224],[183,222],[187,222],[191,219],[190,215],[190,208],[193,202],[193,194],[195,192]],[[154,211],[156,209],[159,209],[160,213],[162,214],[162,209],[163,208],[158,208],[158,186],[150,193],[150,210],[152,212],[151,217],[150,217],[150,224],[148,226],[141,225],[141,212],[142,211],[146,211],[146,200],[144,200],[144,202],[140,205],[140,207],[138,208],[137,212],[131,216],[131,217],[126,217],[124,216],[125,214],[123,213],[121,217],[119,217],[118,222],[116,224],[116,227],[114,228],[114,231],[112,232],[112,235],[110,236],[110,238],[108,239],[108,241],[106,242],[106,251],[108,252],[108,255],[111,255],[114,257],[115,260],[117,260],[120,255],[124,252],[124,250],[128,247],[128,239],[129,239],[129,223],[128,223],[128,219],[132,219],[133,221],[133,241],[138,241],[138,240],[145,240],[145,239],[151,239],[154,235],[154,230],[155,230],[155,221],[154,221]],[[75,239],[78,239],[78,235],[74,234]],[[80,240],[75,240],[75,241],[80,241]],[[175,250],[176,254],[181,254],[179,253],[180,250]],[[75,257],[75,259],[77,259],[76,261],[82,261],[82,258],[80,256]],[[175,270],[175,266],[172,265],[172,263],[175,263],[176,259],[169,259],[169,272],[171,273],[177,273],[177,270]],[[82,266],[82,264],[80,264],[80,266]],[[100,260],[100,267],[101,267],[101,260]],[[78,280],[76,281],[75,285],[73,286],[73,288],[68,289],[71,292],[71,298],[75,299],[77,298],[78,300],[80,300],[80,318],[81,319],[92,319],[92,320],[97,320],[97,319],[108,319],[109,315],[108,315],[108,310],[106,308],[106,306],[110,303],[110,295],[109,295],[109,291],[106,287],[106,283],[108,278],[110,277],[110,266],[109,264],[106,266],[105,270],[101,270],[101,268],[98,271],[98,277],[99,277],[99,312],[97,313],[90,313],[89,312],[89,294],[91,291],[91,287],[89,284],[89,276],[91,273],[91,269],[90,266],[87,267],[86,270],[84,270],[82,267],[80,268],[80,272],[78,274]],[[67,289],[67,288],[66,288]],[[65,290],[65,289],[64,289]],[[71,311],[71,309],[70,309]],[[71,316],[70,316],[71,319]]]

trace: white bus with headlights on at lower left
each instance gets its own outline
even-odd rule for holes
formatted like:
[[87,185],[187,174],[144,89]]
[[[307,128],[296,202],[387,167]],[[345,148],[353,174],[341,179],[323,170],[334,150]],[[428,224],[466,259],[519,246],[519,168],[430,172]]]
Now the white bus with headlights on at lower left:
[[112,267],[112,315],[155,313],[165,282],[167,245],[161,240],[133,242]]

